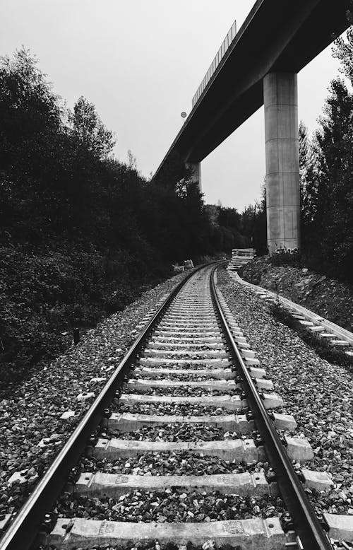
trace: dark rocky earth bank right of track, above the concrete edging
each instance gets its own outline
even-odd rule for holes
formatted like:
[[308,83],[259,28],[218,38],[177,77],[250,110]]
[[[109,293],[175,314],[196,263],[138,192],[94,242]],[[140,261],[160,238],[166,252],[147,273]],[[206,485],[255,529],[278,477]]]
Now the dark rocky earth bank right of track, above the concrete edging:
[[353,332],[353,288],[349,284],[305,267],[274,266],[265,256],[239,269],[239,275]]

